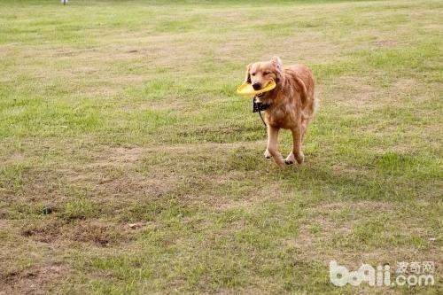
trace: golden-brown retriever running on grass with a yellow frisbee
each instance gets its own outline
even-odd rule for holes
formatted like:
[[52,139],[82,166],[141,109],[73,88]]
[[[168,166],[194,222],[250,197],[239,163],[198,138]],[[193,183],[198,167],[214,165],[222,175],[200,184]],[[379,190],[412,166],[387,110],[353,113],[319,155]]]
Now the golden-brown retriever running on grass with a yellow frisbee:
[[[295,160],[301,164],[305,159],[301,144],[317,105],[314,76],[307,66],[282,67],[278,57],[247,66],[245,82],[253,84],[254,89],[262,89],[271,81],[276,82],[275,89],[254,97],[255,102],[268,105],[265,111],[268,127],[265,157],[269,159],[272,156],[279,167],[283,167],[284,163],[291,165]],[[290,129],[292,132],[293,147],[286,159],[277,150],[280,128]]]

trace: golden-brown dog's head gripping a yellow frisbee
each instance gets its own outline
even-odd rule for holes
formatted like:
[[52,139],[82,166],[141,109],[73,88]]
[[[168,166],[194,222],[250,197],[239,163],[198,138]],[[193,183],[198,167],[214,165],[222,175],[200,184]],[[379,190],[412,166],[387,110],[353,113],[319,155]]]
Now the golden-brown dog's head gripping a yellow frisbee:
[[[274,57],[269,61],[250,64],[246,68],[245,82],[253,84],[253,89],[260,90],[268,86],[269,82],[282,80],[282,61]],[[269,91],[271,92],[271,91]],[[269,92],[264,92],[257,97],[265,97]]]

